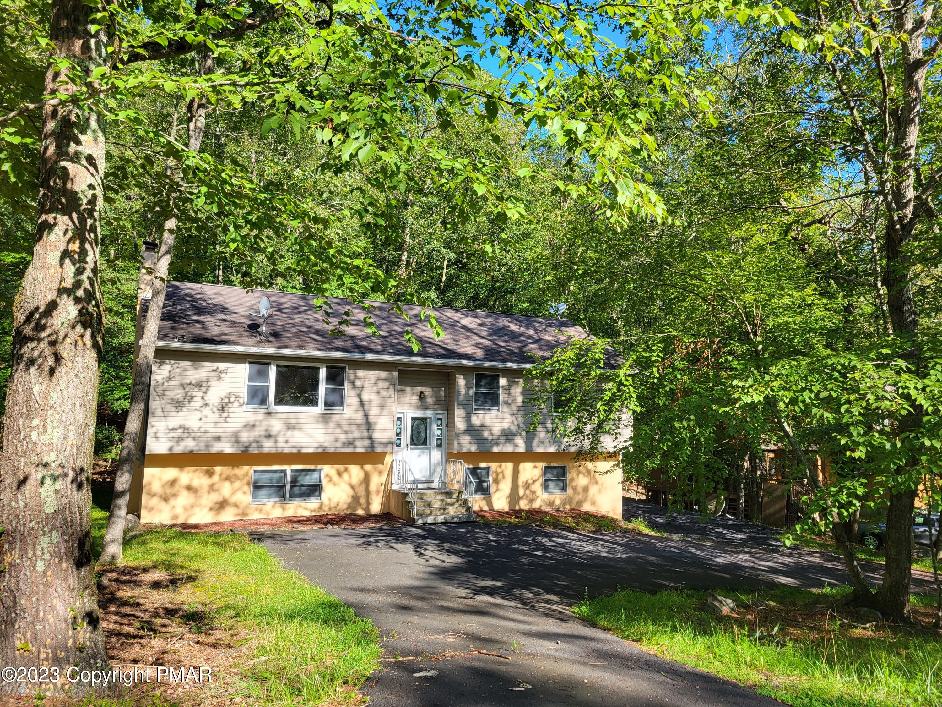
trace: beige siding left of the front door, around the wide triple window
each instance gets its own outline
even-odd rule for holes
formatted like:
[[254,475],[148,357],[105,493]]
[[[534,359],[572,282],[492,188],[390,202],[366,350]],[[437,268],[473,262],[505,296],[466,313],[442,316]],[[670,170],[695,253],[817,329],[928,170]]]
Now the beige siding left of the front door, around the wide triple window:
[[[163,351],[157,355],[148,454],[392,449],[396,428],[392,366],[349,365],[346,412],[285,412],[245,409],[246,356]],[[266,357],[252,356],[252,360]]]

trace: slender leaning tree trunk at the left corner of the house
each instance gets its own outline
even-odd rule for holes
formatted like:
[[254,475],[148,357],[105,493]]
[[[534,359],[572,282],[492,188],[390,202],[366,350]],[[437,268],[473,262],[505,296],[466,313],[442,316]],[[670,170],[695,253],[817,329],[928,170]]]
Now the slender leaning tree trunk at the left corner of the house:
[[[213,56],[211,54],[203,53],[199,61],[200,75],[212,72]],[[191,98],[187,105],[187,132],[189,135],[187,147],[190,152],[199,152],[200,146],[203,144],[205,116],[205,96],[197,95]],[[179,172],[177,170],[174,170],[173,178],[179,181]],[[122,558],[124,524],[127,520],[127,501],[131,494],[131,480],[134,475],[134,459],[140,446],[147,391],[151,386],[151,370],[154,368],[157,329],[160,325],[160,315],[164,309],[164,298],[167,295],[167,278],[173,258],[173,243],[176,239],[177,217],[172,195],[169,211],[170,215],[164,221],[163,235],[160,238],[160,252],[157,255],[157,264],[154,268],[154,288],[152,289],[151,302],[147,308],[144,331],[140,338],[138,361],[134,371],[134,382],[131,386],[131,405],[128,409],[127,421],[124,423],[124,436],[121,452],[118,455],[118,470],[115,473],[114,496],[111,499],[111,512],[108,515],[108,526],[105,532],[105,540],[102,543],[102,556],[100,559],[102,564],[119,563]]]

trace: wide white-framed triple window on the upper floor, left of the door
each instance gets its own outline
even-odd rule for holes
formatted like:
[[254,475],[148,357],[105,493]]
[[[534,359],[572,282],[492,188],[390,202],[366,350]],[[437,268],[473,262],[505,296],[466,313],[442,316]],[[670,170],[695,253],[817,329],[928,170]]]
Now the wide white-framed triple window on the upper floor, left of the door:
[[347,367],[250,361],[245,404],[263,410],[343,411]]

